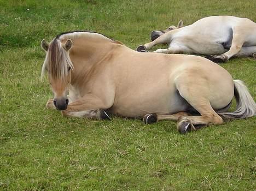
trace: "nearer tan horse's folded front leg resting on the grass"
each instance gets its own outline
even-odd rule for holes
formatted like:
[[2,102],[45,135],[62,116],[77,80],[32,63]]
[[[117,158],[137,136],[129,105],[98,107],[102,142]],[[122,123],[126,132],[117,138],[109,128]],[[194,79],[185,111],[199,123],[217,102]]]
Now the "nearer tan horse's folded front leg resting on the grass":
[[[111,99],[109,99],[111,100]],[[112,102],[104,102],[96,96],[81,98],[69,104],[66,110],[61,111],[66,117],[84,117],[97,120],[110,119],[107,110],[112,106]]]

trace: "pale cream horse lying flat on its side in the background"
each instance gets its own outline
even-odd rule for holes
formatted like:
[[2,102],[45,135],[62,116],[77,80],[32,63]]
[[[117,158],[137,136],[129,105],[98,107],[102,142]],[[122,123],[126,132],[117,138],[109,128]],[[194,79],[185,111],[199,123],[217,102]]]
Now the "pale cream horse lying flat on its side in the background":
[[192,25],[171,26],[165,31],[153,31],[150,43],[138,46],[145,51],[156,44],[168,44],[159,53],[196,53],[208,56],[213,62],[225,62],[233,56],[256,57],[256,23],[234,16],[210,16]]

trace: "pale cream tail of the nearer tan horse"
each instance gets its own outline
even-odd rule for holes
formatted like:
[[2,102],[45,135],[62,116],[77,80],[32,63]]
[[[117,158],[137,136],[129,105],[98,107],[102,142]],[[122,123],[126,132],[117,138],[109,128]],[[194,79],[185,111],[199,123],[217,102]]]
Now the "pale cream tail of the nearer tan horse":
[[224,120],[243,119],[256,115],[256,104],[247,87],[241,80],[234,80],[234,96],[236,110],[234,112],[220,112],[218,115]]

